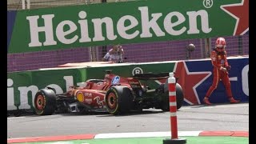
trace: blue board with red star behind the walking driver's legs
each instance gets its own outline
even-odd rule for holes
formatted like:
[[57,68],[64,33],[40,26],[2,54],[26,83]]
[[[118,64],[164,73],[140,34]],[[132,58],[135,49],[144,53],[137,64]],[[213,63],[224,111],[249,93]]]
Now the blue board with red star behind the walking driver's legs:
[[[228,62],[232,66],[229,71],[229,77],[234,98],[242,102],[248,102],[249,58],[232,58],[228,59]],[[213,81],[212,70],[213,66],[210,60],[176,63],[174,72],[179,77],[178,83],[184,90],[186,103],[190,105],[202,104],[202,99]],[[218,87],[210,95],[210,102],[229,102],[222,82],[218,83]]]

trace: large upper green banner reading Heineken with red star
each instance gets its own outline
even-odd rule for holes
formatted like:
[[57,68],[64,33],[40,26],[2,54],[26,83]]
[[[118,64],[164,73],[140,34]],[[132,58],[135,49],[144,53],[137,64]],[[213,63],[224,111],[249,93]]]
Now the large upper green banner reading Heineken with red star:
[[149,0],[20,10],[8,53],[242,35],[249,0]]

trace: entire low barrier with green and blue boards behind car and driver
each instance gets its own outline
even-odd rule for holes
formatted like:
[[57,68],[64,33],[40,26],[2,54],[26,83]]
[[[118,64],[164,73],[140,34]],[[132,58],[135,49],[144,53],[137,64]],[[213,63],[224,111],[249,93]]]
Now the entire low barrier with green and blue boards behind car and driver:
[[[230,82],[234,98],[242,102],[249,101],[249,57],[228,58],[230,65]],[[99,66],[80,66],[70,68],[52,68],[44,70],[7,73],[7,110],[30,109],[33,107],[34,94],[46,86],[53,86],[58,94],[66,92],[69,86],[79,85],[89,78],[103,78],[104,70],[114,70],[115,74],[130,77],[140,73],[174,72],[178,83],[182,86],[184,104],[201,104],[206,90],[212,82],[212,66],[210,59],[118,63]],[[148,82],[151,87],[163,81]],[[228,102],[222,83],[210,97],[213,103]]]

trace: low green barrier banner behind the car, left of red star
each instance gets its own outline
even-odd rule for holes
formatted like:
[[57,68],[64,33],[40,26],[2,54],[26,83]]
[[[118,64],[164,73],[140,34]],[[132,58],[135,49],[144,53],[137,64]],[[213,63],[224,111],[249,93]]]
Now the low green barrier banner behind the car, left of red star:
[[[129,64],[120,66],[98,66],[57,70],[34,70],[7,73],[7,110],[32,109],[34,96],[39,89],[50,86],[56,94],[66,92],[70,86],[79,86],[87,79],[103,79],[105,70],[114,74],[132,77],[134,74],[161,73],[174,70],[175,62]],[[158,86],[162,82],[150,81],[148,86]]]

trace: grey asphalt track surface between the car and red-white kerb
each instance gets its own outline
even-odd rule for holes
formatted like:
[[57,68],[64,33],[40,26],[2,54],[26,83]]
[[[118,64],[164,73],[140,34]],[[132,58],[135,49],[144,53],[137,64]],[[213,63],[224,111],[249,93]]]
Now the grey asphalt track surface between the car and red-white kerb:
[[[177,114],[178,131],[249,131],[248,102],[182,106]],[[7,138],[168,131],[170,112],[154,109],[118,116],[101,112],[7,118]]]

